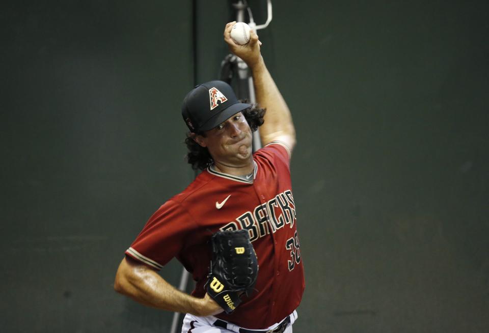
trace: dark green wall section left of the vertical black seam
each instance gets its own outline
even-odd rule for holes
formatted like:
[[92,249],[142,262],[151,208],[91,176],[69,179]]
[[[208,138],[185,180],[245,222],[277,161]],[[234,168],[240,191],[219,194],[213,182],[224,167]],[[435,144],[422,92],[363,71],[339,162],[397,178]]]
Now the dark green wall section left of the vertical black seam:
[[[193,173],[189,2],[12,2],[2,9],[3,332],[168,331],[114,292],[125,249]],[[180,266],[162,274],[174,284]]]

